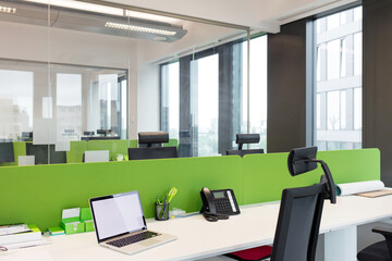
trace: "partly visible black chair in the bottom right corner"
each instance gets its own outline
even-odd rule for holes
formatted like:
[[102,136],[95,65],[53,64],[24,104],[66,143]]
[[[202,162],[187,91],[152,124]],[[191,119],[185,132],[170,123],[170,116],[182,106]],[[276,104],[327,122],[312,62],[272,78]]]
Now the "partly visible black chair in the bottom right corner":
[[392,260],[392,228],[375,227],[371,229],[380,233],[385,240],[375,243],[358,252],[358,261],[390,261]]

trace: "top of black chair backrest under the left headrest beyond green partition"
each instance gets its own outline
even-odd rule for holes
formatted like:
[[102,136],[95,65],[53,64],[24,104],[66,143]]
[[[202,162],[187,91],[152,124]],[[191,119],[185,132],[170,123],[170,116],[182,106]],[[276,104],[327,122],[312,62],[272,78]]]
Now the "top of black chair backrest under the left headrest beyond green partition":
[[130,160],[177,158],[176,147],[128,148]]

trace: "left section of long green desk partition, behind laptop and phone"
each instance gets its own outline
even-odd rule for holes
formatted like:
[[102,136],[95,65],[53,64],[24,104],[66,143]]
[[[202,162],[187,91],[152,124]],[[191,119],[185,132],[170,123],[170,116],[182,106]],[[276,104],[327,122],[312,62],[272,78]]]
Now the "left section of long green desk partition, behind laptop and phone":
[[157,195],[168,194],[172,186],[179,189],[172,206],[198,211],[204,186],[241,192],[240,172],[241,159],[226,157],[5,166],[0,224],[34,223],[46,229],[59,225],[62,209],[87,207],[91,197],[135,189],[146,216],[152,217]]

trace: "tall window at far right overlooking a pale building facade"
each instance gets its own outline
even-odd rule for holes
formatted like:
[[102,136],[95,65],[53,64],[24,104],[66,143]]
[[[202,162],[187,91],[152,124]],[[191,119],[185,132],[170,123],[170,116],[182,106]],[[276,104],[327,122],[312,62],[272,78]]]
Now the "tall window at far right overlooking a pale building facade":
[[316,22],[315,138],[320,150],[362,147],[362,7]]

